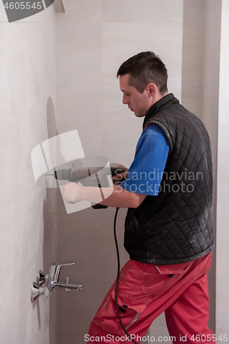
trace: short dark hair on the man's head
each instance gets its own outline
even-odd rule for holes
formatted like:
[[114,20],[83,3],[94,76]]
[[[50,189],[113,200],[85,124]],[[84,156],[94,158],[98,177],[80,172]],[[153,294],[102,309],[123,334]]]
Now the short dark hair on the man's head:
[[160,94],[168,91],[166,66],[154,52],[140,52],[124,61],[118,69],[117,78],[125,74],[130,74],[129,85],[140,93],[144,92],[149,83],[154,83]]

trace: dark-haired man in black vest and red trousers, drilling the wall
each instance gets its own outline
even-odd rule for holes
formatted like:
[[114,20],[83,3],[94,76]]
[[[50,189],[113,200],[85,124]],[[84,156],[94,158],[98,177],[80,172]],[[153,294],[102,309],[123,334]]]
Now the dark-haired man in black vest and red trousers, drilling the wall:
[[[124,327],[140,343],[165,312],[173,343],[213,343],[208,283],[213,248],[212,162],[203,123],[167,91],[167,70],[153,52],[122,63],[122,103],[144,117],[128,178],[101,204],[129,208],[118,305]],[[121,188],[121,189],[120,189]],[[93,188],[69,183],[67,202],[91,200]],[[89,329],[90,343],[129,343],[118,321],[115,283]],[[113,337],[112,337],[113,336]],[[111,338],[113,342],[111,341]]]

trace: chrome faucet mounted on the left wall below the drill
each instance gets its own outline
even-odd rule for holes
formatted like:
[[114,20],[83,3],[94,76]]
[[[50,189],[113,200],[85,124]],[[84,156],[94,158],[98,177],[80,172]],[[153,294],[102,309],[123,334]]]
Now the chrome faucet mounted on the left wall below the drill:
[[31,301],[36,300],[40,295],[48,297],[53,288],[65,288],[65,292],[70,292],[72,289],[81,290],[83,284],[79,282],[70,283],[69,277],[65,277],[65,281],[60,281],[60,272],[62,266],[69,266],[76,264],[74,261],[61,261],[52,263],[50,266],[49,275],[45,275],[43,271],[39,270],[37,281],[32,283]]

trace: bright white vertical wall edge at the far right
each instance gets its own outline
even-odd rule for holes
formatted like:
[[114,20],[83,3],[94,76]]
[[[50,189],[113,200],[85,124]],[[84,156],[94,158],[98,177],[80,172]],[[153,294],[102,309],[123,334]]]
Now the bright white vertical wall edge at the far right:
[[216,333],[228,334],[229,323],[229,3],[222,0],[219,69],[219,120],[217,164],[217,289]]

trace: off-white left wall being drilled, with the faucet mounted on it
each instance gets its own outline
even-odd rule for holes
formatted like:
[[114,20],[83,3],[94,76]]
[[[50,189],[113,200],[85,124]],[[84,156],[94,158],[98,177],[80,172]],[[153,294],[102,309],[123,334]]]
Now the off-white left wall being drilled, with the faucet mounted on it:
[[30,301],[38,270],[54,258],[52,231],[50,247],[43,242],[46,191],[36,186],[30,154],[48,137],[47,100],[56,101],[55,45],[53,6],[8,23],[1,1],[1,344],[48,344],[54,338],[49,300]]

